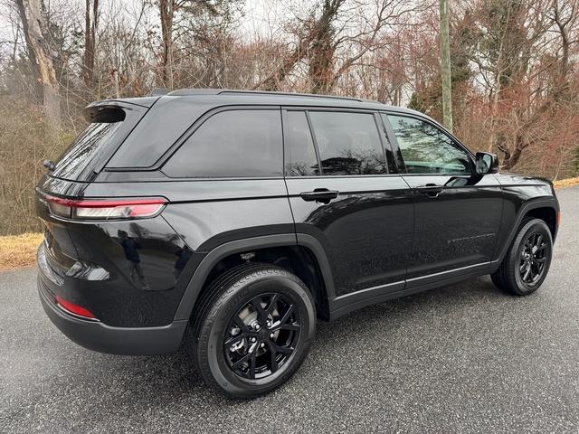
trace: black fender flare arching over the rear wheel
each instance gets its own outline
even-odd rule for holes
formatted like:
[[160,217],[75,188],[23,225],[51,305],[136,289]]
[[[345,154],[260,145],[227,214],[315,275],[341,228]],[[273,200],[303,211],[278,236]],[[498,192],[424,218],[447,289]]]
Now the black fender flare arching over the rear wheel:
[[209,251],[204,259],[201,260],[195,269],[192,278],[189,280],[189,283],[185,288],[185,293],[177,307],[174,321],[188,320],[191,317],[195,307],[195,302],[204,287],[205,280],[209,276],[211,270],[214,269],[214,266],[221,259],[244,251],[281,246],[302,246],[311,250],[316,260],[318,260],[318,266],[322,274],[321,278],[324,282],[324,288],[326,288],[327,299],[331,300],[336,297],[334,280],[326,251],[316,238],[304,233],[264,235],[260,237],[224,242]]

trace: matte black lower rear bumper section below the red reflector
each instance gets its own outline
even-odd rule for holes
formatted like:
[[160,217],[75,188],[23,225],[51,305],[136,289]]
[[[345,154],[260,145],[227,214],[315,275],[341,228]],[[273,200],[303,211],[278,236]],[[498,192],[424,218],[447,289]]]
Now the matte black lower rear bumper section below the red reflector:
[[56,305],[42,274],[38,276],[38,292],[52,324],[71,341],[100,353],[171,354],[179,348],[185,334],[186,320],[158,327],[111,327],[99,321],[71,316]]

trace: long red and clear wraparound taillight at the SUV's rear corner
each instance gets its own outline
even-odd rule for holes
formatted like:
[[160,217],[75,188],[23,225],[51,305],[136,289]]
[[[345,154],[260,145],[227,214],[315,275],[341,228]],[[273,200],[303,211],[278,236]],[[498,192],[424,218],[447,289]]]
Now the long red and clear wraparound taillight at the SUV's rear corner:
[[155,217],[166,205],[162,197],[143,199],[63,199],[43,195],[52,214],[75,220],[125,220]]

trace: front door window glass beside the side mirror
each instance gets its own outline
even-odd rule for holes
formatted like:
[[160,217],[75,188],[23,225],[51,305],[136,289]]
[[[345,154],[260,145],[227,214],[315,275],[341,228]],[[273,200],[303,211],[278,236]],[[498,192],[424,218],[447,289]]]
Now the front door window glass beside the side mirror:
[[472,173],[467,152],[439,128],[415,118],[403,116],[387,118],[394,129],[409,174]]

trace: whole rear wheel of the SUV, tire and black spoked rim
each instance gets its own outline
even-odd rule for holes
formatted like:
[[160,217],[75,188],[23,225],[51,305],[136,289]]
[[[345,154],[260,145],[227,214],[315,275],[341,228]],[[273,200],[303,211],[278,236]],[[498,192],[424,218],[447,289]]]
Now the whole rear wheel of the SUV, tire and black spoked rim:
[[308,288],[270,264],[248,263],[223,273],[197,306],[185,345],[204,381],[233,398],[280,387],[298,370],[314,338],[316,309]]

